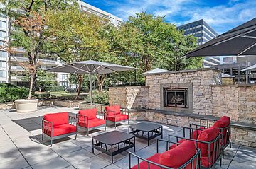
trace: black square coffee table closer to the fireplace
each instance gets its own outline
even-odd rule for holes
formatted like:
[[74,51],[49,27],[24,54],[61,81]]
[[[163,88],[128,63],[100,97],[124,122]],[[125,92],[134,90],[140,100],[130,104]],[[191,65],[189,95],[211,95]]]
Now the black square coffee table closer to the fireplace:
[[163,127],[159,124],[141,122],[130,125],[129,134],[134,134],[134,136],[140,139],[147,140],[149,146],[149,140],[154,139],[157,136],[161,136],[161,139],[163,139]]

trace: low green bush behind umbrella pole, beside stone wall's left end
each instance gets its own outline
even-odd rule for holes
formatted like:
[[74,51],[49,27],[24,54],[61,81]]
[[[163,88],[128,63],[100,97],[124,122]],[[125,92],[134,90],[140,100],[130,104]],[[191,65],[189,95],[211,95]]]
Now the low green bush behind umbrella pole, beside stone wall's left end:
[[[90,95],[85,97],[85,101],[90,103]],[[108,91],[92,91],[92,103],[108,105],[109,104],[109,96]]]

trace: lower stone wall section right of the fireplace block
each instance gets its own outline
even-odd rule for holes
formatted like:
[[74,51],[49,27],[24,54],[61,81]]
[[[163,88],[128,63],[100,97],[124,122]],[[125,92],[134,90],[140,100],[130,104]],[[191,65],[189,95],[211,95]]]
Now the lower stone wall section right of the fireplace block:
[[213,115],[227,115],[235,122],[256,124],[256,86],[212,86]]

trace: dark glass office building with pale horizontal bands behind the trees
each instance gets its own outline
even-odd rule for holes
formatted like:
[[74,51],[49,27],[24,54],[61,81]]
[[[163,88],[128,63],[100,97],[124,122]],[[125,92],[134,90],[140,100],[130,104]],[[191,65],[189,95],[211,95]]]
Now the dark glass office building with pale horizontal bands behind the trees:
[[[183,35],[188,36],[192,35],[197,38],[198,46],[203,45],[214,37],[218,36],[218,33],[213,30],[213,28],[203,21],[195,21],[192,23],[187,23],[185,25],[180,25],[177,27],[178,30],[183,30]],[[220,64],[220,57],[204,57],[203,66],[204,67],[213,67]]]

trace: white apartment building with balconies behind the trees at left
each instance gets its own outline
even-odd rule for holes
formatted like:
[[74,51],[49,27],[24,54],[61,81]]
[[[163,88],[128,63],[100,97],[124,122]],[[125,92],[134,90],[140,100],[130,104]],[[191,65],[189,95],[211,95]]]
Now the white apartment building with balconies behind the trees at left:
[[[98,16],[110,18],[110,22],[114,26],[118,26],[122,23],[122,19],[117,16],[102,11],[100,8],[86,4],[83,1],[78,1],[78,4],[82,11],[94,13]],[[0,4],[0,8],[3,8],[4,4]],[[6,16],[0,16],[0,83],[12,83],[17,86],[28,86],[28,80],[25,78],[26,71],[19,66],[21,62],[28,62],[28,58],[25,57],[26,51],[24,49],[16,49],[12,52],[4,50],[4,46],[9,42],[9,35],[11,32],[9,18]],[[41,69],[50,69],[55,66],[63,64],[60,59],[52,57],[44,57],[40,60]],[[68,74],[58,73],[55,74],[58,86],[68,86]]]

